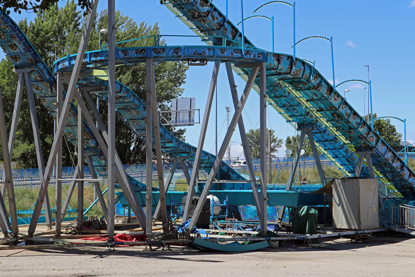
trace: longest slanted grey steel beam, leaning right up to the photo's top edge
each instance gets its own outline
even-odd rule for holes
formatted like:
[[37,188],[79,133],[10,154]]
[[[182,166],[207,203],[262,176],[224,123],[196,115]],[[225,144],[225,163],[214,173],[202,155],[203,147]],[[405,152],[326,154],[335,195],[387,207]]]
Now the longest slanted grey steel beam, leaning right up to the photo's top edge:
[[49,154],[49,159],[46,164],[46,170],[45,170],[45,174],[43,177],[43,179],[45,180],[45,183],[41,184],[40,186],[39,196],[37,197],[37,201],[36,201],[36,204],[33,210],[32,221],[30,222],[30,225],[29,225],[29,230],[28,230],[29,237],[32,237],[34,234],[34,231],[37,226],[37,221],[39,219],[40,211],[42,208],[42,204],[46,196],[52,168],[56,161],[56,154],[58,154],[58,150],[59,150],[58,149],[59,147],[57,147],[58,142],[59,142],[59,137],[62,136],[63,130],[65,129],[66,119],[68,118],[68,113],[69,113],[69,109],[71,108],[72,98],[76,90],[79,72],[81,71],[81,67],[82,67],[83,56],[85,54],[85,49],[88,44],[88,38],[89,38],[91,29],[94,23],[97,5],[98,5],[98,0],[91,0],[91,9],[89,10],[88,16],[85,20],[85,28],[83,30],[81,42],[79,44],[78,54],[76,56],[76,61],[73,67],[72,75],[71,75],[71,81],[69,81],[69,84],[68,84],[68,93],[66,94],[66,98],[63,103],[61,117],[59,118],[59,123],[56,126],[56,134],[54,136],[54,141],[52,143],[51,152]]

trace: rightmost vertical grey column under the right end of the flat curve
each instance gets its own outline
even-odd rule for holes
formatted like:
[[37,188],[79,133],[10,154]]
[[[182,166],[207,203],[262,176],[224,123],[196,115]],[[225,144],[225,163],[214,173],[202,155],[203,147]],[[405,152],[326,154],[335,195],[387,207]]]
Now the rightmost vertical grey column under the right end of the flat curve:
[[[256,74],[255,74],[256,75]],[[259,68],[259,130],[260,130],[260,163],[261,163],[261,194],[259,205],[261,206],[261,233],[266,234],[267,223],[267,194],[266,194],[266,63],[262,63]]]

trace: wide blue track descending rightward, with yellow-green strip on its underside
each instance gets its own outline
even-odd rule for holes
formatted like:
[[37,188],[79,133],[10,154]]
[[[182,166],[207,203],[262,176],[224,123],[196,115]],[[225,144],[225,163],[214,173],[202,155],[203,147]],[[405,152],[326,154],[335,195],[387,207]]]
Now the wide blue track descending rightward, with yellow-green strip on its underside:
[[[166,5],[196,34],[205,38],[209,45],[219,45],[221,36],[227,46],[241,47],[242,34],[217,7],[208,0],[171,0]],[[244,37],[247,45],[244,54],[255,49]],[[250,49],[252,48],[252,49]],[[398,196],[415,199],[414,172],[392,148],[371,131],[371,127],[349,103],[335,91],[330,83],[310,64],[293,59],[293,56],[266,53],[268,102],[283,117],[301,127],[313,125],[315,141],[329,159],[335,159],[340,169],[349,174],[356,168],[356,151],[374,150],[371,154],[375,172]],[[234,68],[247,80],[249,69]],[[254,85],[259,91],[259,82]]]

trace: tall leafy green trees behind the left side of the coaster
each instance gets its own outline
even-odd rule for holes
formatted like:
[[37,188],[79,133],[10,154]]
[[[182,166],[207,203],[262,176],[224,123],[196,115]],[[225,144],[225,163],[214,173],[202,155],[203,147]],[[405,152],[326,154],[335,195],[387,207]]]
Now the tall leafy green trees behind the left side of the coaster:
[[[119,11],[116,11],[115,17],[117,41],[160,34],[157,23],[154,25],[147,25],[145,22],[137,24],[134,19],[121,14]],[[55,60],[55,51],[57,57],[74,54],[78,51],[84,22],[85,18],[83,18],[82,12],[77,10],[75,0],[68,0],[63,7],[58,7],[55,4],[42,13],[38,12],[33,22],[27,22],[24,19],[18,25],[27,35],[27,38],[45,63],[48,66],[52,66]],[[103,10],[95,18],[87,51],[98,49],[99,31],[100,29],[108,27],[107,22],[107,10]],[[101,34],[101,42],[102,44],[107,42],[107,34]],[[164,44],[164,40],[161,40],[161,44]],[[153,39],[140,39],[122,44],[123,47],[153,45]],[[0,62],[0,89],[2,89],[3,94],[6,123],[9,122],[12,116],[17,89],[18,75],[13,73],[12,69],[13,65],[8,58]],[[170,109],[169,104],[172,99],[178,98],[183,93],[181,86],[185,83],[187,69],[188,66],[182,62],[164,62],[155,66],[157,103],[160,110]],[[132,91],[137,93],[137,96],[145,101],[146,76],[144,64],[117,66],[116,78],[129,86]],[[36,108],[41,134],[41,145],[46,161],[49,157],[51,142],[53,141],[53,119],[47,115],[46,108],[44,108],[44,105],[38,99],[36,99]],[[107,123],[107,105],[104,101],[100,102],[100,112],[104,122]],[[27,124],[29,118],[29,106],[26,96],[22,98],[15,150],[12,159],[20,162],[22,167],[37,167],[33,136],[28,135],[32,133],[31,125]],[[116,128],[116,149],[120,153],[122,162],[142,163],[145,161],[144,142],[118,117],[116,117]],[[168,129],[174,135],[184,139],[186,129],[175,130],[173,127]],[[73,147],[71,143],[63,142],[63,151],[63,164],[66,166],[73,165]]]

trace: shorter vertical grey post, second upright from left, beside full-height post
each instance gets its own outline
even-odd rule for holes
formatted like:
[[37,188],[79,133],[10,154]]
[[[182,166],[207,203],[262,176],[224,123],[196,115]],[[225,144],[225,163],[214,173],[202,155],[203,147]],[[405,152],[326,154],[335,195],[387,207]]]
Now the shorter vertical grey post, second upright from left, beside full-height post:
[[[81,94],[81,99],[83,100],[82,92],[79,91]],[[78,167],[79,167],[79,179],[83,179],[83,164],[84,164],[84,150],[83,150],[83,113],[81,109],[81,105],[78,103]],[[78,181],[78,225],[77,230],[79,233],[82,232],[83,227],[83,181]]]

